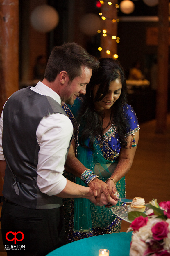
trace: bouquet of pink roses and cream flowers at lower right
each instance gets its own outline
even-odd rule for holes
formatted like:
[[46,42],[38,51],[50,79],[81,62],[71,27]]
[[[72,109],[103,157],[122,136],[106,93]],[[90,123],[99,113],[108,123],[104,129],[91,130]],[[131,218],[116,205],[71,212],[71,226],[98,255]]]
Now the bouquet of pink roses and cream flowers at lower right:
[[128,231],[133,230],[130,256],[170,256],[170,201],[149,203],[146,213],[128,213]]

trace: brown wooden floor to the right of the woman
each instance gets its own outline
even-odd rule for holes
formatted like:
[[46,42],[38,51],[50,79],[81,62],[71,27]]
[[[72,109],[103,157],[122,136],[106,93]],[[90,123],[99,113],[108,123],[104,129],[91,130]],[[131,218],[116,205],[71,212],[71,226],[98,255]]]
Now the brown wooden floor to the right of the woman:
[[[126,175],[126,198],[140,196],[148,203],[170,200],[170,114],[167,132],[155,134],[155,120],[140,125],[140,136],[133,165]],[[121,232],[129,223],[122,221]],[[0,252],[0,256],[7,255]]]

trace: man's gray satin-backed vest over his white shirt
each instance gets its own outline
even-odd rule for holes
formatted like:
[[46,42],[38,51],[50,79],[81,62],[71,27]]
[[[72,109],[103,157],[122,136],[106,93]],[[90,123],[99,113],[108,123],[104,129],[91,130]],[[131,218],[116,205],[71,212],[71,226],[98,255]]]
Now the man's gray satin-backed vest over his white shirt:
[[29,88],[15,92],[3,109],[2,147],[7,163],[3,196],[20,206],[52,209],[62,205],[62,198],[48,196],[37,186],[36,171],[40,147],[36,130],[41,119],[53,113],[66,115],[51,97],[35,93]]

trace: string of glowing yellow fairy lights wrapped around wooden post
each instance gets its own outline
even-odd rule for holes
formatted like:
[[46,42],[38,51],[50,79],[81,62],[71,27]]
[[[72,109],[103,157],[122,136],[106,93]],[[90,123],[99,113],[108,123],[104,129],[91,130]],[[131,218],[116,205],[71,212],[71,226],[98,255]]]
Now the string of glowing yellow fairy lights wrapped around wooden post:
[[[112,2],[103,1],[103,0],[100,0],[100,1],[99,1],[99,3],[100,3],[101,5],[104,4],[104,2],[107,2],[108,5],[112,5]],[[101,7],[101,6],[100,6],[100,7]],[[119,8],[119,4],[115,4],[115,7],[116,7],[116,8]],[[102,13],[99,13],[99,16],[101,16],[102,20],[108,19],[108,20],[111,20],[112,23],[119,22],[119,19],[116,19],[116,20],[115,20],[115,19],[112,19],[112,18],[105,17],[105,16],[102,15]],[[99,29],[97,32],[98,32],[98,33],[101,33],[101,30]],[[107,34],[107,30],[106,30],[106,29],[103,29],[102,32],[103,32],[103,36],[104,36],[104,37],[106,37],[106,36],[111,36],[111,38],[112,38],[113,40],[116,40],[117,43],[120,42],[120,38],[119,38],[118,36],[113,36],[113,35]],[[111,53],[110,50],[102,49],[101,47],[98,47],[98,50],[99,50],[99,51],[105,50],[107,54],[110,54],[110,53]],[[114,54],[113,57],[114,57],[114,58],[118,58],[119,56],[118,56],[117,54]]]

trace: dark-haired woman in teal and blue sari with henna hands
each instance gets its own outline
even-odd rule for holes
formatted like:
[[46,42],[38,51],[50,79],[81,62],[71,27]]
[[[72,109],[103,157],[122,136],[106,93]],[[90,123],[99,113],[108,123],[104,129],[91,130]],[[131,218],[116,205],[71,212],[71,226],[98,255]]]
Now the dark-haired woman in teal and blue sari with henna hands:
[[[114,199],[126,197],[125,174],[133,163],[140,129],[133,108],[126,104],[120,63],[112,58],[99,61],[86,94],[77,97],[74,105],[62,105],[74,126],[65,176],[90,186],[98,202],[101,195],[108,198],[111,192]],[[99,207],[83,198],[65,198],[63,203],[69,242],[120,232],[121,219],[113,215],[111,205]]]

